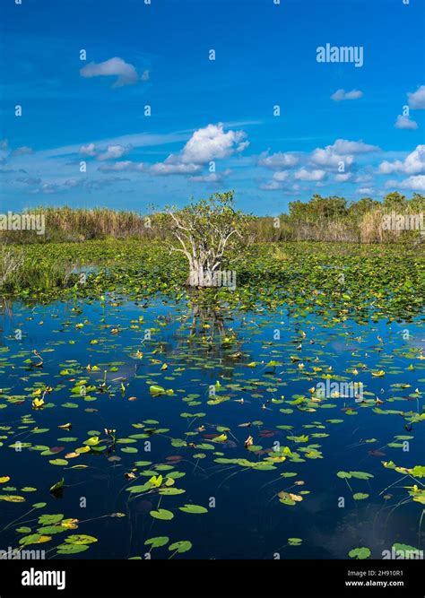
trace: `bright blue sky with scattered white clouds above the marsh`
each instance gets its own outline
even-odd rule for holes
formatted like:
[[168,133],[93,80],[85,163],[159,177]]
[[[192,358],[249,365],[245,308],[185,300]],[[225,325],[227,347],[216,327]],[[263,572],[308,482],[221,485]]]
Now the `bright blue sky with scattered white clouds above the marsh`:
[[2,212],[424,193],[425,4],[406,1],[9,0]]

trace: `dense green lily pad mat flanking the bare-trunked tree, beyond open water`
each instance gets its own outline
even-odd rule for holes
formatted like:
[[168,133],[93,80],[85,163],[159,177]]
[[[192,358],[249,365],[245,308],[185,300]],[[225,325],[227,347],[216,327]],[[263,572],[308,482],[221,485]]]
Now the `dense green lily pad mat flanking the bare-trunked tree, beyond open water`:
[[[105,293],[145,300],[157,292],[186,294],[186,262],[160,242],[135,239],[33,245],[19,248],[27,261],[43,265],[74,264],[76,272],[60,282],[41,278],[33,286],[17,283],[15,296],[26,300],[99,299]],[[425,295],[423,248],[406,245],[279,243],[247,247],[230,256],[236,289],[205,290],[242,309],[287,305],[303,317],[372,316],[408,320],[421,312]],[[55,277],[53,277],[55,278]],[[72,284],[71,284],[72,282]]]

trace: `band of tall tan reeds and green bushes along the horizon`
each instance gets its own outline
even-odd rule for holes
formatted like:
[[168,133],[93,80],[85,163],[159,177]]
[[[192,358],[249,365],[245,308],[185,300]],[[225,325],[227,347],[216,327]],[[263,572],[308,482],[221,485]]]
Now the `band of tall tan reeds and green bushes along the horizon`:
[[[79,242],[94,238],[169,238],[167,219],[157,214],[107,208],[39,207],[44,214],[45,234],[31,230],[0,230],[0,242]],[[249,217],[247,244],[269,241],[400,242],[421,237],[424,228],[425,195],[410,199],[400,193],[386,195],[382,202],[370,197],[347,202],[344,197],[313,195],[308,202],[289,204],[289,213],[279,217]],[[400,216],[412,218],[400,219]],[[391,218],[388,220],[388,217]],[[399,224],[397,225],[397,218]],[[425,233],[424,233],[425,234]]]

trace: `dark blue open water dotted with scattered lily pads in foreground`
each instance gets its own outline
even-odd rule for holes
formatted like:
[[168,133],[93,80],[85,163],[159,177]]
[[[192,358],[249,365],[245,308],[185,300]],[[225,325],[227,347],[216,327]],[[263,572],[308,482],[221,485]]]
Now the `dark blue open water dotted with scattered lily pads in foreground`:
[[[38,518],[46,514],[80,522],[27,546],[46,550],[47,558],[73,558],[56,554],[72,534],[97,539],[75,554],[87,559],[143,557],[149,551],[144,542],[158,536],[169,543],[152,549],[152,558],[169,558],[175,552],[169,544],[179,541],[192,543],[174,556],[184,559],[335,559],[358,547],[382,558],[395,542],[423,547],[424,505],[405,488],[416,483],[421,489],[421,478],[382,464],[412,468],[424,461],[425,422],[418,415],[425,333],[419,320],[360,325],[311,315],[301,320],[286,309],[213,314],[159,298],[146,307],[110,299],[13,304],[1,325],[0,478],[10,481],[0,484],[0,529],[22,519],[0,532],[0,550],[43,535]],[[151,339],[143,341],[147,330]],[[42,368],[35,367],[40,358],[33,350]],[[326,376],[329,383],[362,383],[364,403],[353,395],[317,397],[313,389]],[[75,390],[79,381],[85,381],[85,394]],[[152,385],[174,394],[154,395]],[[34,398],[42,395],[37,389],[46,386],[53,390],[34,410]],[[66,423],[72,429],[58,429]],[[244,446],[248,436],[255,450]],[[91,437],[99,437],[96,448],[105,450],[66,458]],[[286,460],[271,461],[276,455]],[[50,463],[56,459],[67,464]],[[127,480],[132,470],[136,477]],[[185,475],[166,486],[170,472]],[[373,477],[345,480],[337,472]],[[127,491],[160,474],[161,489],[185,492]],[[51,494],[62,478],[63,491]],[[281,491],[296,495],[290,498],[295,504],[282,503]],[[358,493],[368,496],[354,499]],[[4,500],[8,496],[25,501]],[[24,516],[39,502],[46,507]],[[179,508],[191,504],[208,512]],[[158,506],[173,518],[152,517]],[[125,516],[111,516],[117,513]],[[302,542],[289,545],[289,538]]]

